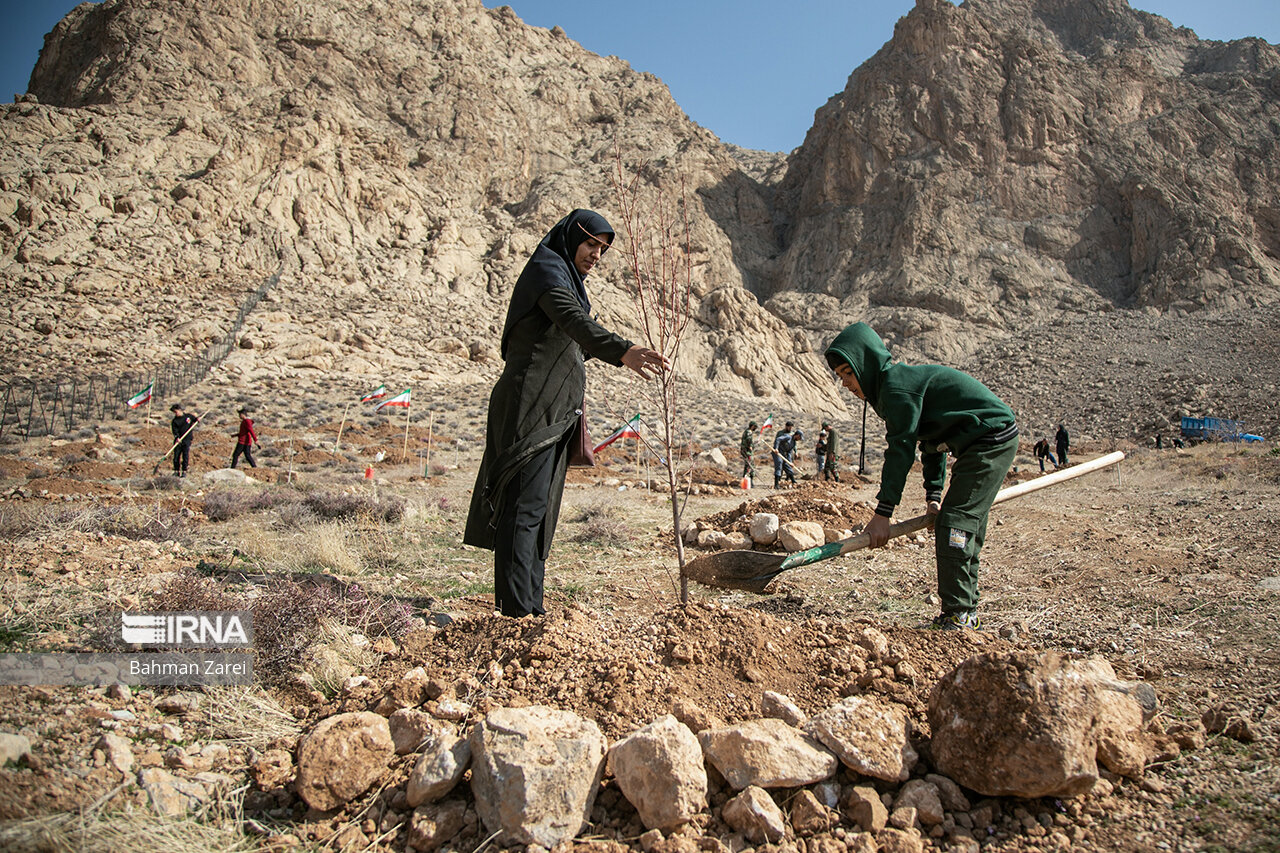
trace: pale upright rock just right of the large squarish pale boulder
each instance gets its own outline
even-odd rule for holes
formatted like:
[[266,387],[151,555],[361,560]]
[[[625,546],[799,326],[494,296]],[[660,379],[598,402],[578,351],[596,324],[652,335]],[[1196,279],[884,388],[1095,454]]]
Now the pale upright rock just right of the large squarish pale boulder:
[[707,807],[703,749],[671,715],[613,744],[607,766],[646,829],[675,829]]

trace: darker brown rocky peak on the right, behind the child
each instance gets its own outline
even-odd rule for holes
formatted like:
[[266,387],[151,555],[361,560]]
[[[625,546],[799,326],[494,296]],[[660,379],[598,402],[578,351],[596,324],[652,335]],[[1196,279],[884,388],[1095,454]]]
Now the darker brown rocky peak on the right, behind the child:
[[955,360],[1041,311],[1274,302],[1277,70],[1124,0],[920,0],[788,164],[771,307]]

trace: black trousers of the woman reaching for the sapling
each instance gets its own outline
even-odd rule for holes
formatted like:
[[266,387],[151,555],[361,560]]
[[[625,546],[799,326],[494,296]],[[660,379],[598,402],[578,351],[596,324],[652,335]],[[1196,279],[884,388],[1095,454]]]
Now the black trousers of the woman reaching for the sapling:
[[541,616],[543,535],[556,471],[556,447],[535,455],[511,478],[498,514],[493,597],[503,616]]

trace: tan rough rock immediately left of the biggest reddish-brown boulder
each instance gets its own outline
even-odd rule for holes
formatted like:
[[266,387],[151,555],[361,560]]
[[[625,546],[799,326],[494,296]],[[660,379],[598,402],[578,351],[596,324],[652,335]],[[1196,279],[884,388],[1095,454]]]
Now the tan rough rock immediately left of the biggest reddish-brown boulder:
[[896,704],[851,695],[805,724],[805,731],[840,756],[850,770],[884,781],[905,781],[918,756],[910,722]]

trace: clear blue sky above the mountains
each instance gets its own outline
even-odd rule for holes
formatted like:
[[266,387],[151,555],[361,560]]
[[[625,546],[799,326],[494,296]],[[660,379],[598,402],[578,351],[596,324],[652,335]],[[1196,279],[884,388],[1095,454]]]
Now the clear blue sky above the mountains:
[[[187,3],[198,0],[172,0]],[[525,23],[559,24],[598,54],[657,74],[726,142],[790,151],[813,113],[893,36],[914,0],[484,0]],[[0,97],[24,92],[45,33],[73,0],[0,0]],[[1280,42],[1280,0],[1130,0],[1201,38]]]

